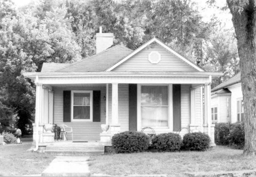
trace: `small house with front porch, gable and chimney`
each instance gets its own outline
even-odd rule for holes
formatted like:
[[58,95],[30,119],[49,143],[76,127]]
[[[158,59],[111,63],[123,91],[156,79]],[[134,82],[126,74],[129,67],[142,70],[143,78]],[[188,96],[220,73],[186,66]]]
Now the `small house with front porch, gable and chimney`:
[[[65,123],[80,141],[108,143],[116,132],[152,127],[156,134],[202,131],[214,143],[211,82],[222,73],[204,71],[157,38],[132,51],[112,47],[113,33],[96,37],[96,55],[24,74],[36,83],[34,141],[48,141],[45,124]],[[110,124],[108,133],[101,124]]]

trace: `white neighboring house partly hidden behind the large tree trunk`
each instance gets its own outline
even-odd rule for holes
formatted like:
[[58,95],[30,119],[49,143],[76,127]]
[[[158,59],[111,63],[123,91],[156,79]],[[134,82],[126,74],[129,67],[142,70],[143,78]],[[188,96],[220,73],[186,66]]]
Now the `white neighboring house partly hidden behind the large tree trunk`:
[[212,122],[240,122],[244,120],[241,73],[212,89]]

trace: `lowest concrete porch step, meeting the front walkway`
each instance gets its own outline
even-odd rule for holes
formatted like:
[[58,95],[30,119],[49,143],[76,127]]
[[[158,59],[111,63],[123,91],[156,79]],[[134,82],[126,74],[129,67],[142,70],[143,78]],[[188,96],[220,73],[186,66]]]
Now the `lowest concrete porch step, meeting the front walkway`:
[[45,150],[44,153],[54,156],[95,156],[104,154],[103,151],[88,151],[88,150]]

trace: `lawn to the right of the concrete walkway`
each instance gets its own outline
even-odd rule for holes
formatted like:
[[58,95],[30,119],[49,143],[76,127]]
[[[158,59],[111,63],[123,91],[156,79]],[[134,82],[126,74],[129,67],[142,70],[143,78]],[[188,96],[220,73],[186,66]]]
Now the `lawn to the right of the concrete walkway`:
[[186,172],[232,171],[256,168],[255,157],[242,156],[242,150],[224,146],[204,152],[143,152],[91,157],[91,173],[109,175],[167,174],[184,176]]

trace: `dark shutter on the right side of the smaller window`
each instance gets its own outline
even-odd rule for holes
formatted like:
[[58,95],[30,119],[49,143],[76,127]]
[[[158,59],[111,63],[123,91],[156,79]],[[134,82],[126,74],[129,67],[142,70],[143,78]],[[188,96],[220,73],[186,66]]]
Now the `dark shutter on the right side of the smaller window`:
[[93,91],[93,122],[100,122],[100,90]]

